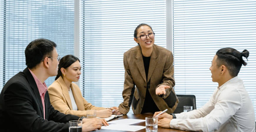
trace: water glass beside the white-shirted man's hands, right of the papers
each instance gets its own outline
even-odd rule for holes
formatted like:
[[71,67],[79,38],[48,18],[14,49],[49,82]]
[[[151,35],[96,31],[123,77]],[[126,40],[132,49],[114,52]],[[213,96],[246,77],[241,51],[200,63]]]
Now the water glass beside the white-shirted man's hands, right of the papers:
[[146,117],[146,132],[157,132],[157,117]]

